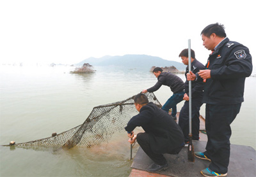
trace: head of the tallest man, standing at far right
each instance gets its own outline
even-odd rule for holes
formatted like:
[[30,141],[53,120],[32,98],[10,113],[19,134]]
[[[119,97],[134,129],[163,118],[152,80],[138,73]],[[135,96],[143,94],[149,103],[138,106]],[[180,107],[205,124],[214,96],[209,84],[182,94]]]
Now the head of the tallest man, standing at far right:
[[227,36],[224,25],[218,23],[207,25],[201,32],[201,35],[204,41],[203,45],[208,50],[214,50],[214,47]]

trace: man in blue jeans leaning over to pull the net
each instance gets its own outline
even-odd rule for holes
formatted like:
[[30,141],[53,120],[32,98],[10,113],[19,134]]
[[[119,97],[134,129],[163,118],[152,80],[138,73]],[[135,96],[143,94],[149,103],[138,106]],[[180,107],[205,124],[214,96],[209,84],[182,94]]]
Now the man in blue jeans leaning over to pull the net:
[[155,92],[158,90],[162,85],[166,85],[170,87],[170,89],[173,92],[172,97],[170,97],[162,109],[166,111],[167,113],[169,112],[170,108],[172,108],[172,115],[171,117],[176,120],[176,114],[177,114],[177,104],[180,103],[180,101],[183,100],[185,90],[184,90],[184,81],[182,81],[179,76],[176,76],[175,74],[172,73],[167,73],[163,72],[163,69],[161,67],[156,67],[153,70],[154,75],[157,78],[157,83],[151,88],[148,88],[147,90],[143,90],[142,93],[146,92]]

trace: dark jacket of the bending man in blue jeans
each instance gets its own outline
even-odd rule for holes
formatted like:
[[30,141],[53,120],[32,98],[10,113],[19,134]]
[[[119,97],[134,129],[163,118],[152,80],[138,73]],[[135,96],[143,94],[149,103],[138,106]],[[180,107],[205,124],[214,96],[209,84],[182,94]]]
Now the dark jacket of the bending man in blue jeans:
[[179,76],[176,76],[172,73],[162,72],[157,77],[157,83],[153,87],[147,89],[148,92],[155,92],[158,90],[162,85],[166,85],[171,88],[173,94],[178,92],[182,92],[184,90],[184,81],[182,81]]

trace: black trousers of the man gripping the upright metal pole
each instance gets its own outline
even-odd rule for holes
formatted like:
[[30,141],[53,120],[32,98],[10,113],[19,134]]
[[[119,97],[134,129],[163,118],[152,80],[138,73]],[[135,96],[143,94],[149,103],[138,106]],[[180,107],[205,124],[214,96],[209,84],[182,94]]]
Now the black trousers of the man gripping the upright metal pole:
[[[202,106],[202,97],[193,97],[192,99],[192,139],[199,139],[199,128],[200,128],[200,107]],[[185,143],[189,141],[189,101],[185,101],[184,106],[180,110],[179,115],[179,126],[184,134]]]

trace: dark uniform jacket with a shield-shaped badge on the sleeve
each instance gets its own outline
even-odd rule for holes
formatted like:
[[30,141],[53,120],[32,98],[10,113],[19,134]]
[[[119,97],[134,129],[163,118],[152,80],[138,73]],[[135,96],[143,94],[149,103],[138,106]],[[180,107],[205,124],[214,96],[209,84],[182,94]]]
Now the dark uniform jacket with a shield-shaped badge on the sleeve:
[[[245,78],[252,74],[252,56],[249,49],[226,38],[209,56],[208,61],[211,78],[205,83],[203,103],[242,103]],[[202,80],[200,76],[197,78]]]

